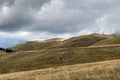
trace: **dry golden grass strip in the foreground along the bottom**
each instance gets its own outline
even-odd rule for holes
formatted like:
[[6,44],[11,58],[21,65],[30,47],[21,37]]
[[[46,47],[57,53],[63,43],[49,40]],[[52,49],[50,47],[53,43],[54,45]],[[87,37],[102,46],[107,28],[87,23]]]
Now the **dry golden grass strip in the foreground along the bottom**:
[[120,60],[1,74],[0,80],[120,80]]

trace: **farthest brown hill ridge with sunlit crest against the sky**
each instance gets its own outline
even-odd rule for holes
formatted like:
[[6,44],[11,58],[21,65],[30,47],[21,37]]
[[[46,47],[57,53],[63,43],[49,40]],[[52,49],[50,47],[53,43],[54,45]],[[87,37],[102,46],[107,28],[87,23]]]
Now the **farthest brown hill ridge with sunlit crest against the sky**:
[[71,47],[87,47],[97,42],[109,39],[110,36],[102,34],[91,34],[77,36],[68,39],[55,38],[45,41],[31,41],[12,47],[13,50],[41,50],[48,48],[71,48]]

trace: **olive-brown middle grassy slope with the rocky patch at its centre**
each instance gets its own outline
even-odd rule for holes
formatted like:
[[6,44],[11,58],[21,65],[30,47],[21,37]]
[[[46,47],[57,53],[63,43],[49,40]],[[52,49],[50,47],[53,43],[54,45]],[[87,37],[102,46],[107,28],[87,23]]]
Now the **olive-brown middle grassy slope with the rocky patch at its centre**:
[[1,73],[120,59],[120,46],[23,51],[4,57],[0,60]]

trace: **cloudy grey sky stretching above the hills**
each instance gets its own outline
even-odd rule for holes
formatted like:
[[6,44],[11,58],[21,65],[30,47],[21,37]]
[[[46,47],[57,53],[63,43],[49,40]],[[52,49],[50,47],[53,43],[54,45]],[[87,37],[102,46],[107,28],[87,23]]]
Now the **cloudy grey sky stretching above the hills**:
[[0,38],[120,32],[120,0],[0,0]]

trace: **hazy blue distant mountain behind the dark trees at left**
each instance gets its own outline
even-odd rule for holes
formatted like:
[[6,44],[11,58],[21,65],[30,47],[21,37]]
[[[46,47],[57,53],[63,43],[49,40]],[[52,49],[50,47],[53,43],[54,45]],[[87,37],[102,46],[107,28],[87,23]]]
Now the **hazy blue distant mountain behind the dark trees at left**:
[[12,39],[12,38],[0,38],[0,47],[2,48],[10,48],[17,44],[21,44],[26,42],[25,40],[21,39]]

